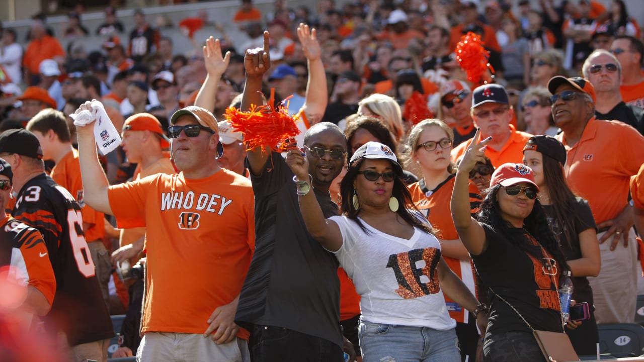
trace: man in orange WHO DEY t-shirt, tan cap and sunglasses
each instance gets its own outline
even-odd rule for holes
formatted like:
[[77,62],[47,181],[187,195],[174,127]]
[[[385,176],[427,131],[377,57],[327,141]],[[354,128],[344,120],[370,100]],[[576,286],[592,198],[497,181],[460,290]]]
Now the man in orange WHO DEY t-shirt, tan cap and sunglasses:
[[85,201],[114,214],[119,227],[149,226],[137,360],[249,361],[249,332],[234,324],[234,313],[254,249],[251,183],[217,163],[222,146],[212,113],[186,107],[170,122],[180,173],[115,186],[96,157],[93,124],[78,127]]

